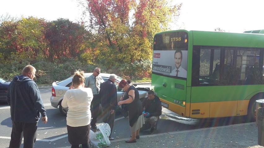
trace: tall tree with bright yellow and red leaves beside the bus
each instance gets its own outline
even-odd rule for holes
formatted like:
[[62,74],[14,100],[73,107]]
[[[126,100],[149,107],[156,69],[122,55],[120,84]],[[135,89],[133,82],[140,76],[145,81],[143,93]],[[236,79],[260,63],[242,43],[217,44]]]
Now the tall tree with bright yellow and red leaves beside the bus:
[[179,15],[181,4],[170,6],[171,2],[87,0],[89,27],[95,32],[95,50],[98,51],[94,60],[107,67],[150,60],[154,34],[167,30],[168,23]]

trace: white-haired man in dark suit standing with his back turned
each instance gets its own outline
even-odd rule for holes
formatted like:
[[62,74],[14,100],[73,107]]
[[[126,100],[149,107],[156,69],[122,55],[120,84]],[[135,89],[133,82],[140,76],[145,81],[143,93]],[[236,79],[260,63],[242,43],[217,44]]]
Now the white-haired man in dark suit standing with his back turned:
[[117,87],[115,85],[116,79],[117,75],[111,74],[109,79],[101,84],[99,92],[102,105],[102,120],[103,123],[108,123],[111,128],[109,140],[115,139],[111,137],[111,134],[115,121],[115,109],[117,108]]

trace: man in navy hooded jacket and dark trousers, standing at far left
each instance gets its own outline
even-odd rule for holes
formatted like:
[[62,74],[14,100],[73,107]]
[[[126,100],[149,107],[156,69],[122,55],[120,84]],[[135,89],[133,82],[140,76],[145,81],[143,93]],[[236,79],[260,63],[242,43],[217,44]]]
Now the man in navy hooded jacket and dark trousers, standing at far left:
[[33,81],[36,69],[25,66],[21,75],[15,76],[7,90],[7,103],[10,105],[12,132],[9,148],[20,147],[24,137],[24,147],[33,148],[37,138],[37,122],[42,118],[47,123],[37,84]]

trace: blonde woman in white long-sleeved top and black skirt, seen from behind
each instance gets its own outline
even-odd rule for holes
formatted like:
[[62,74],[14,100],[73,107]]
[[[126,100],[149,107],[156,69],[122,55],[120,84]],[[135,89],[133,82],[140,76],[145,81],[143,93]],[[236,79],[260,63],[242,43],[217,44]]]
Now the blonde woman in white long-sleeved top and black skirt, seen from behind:
[[90,88],[84,88],[83,71],[76,71],[72,81],[72,86],[66,91],[61,102],[62,107],[68,107],[66,118],[68,141],[72,148],[78,148],[80,144],[83,148],[90,148],[90,104],[93,93]]

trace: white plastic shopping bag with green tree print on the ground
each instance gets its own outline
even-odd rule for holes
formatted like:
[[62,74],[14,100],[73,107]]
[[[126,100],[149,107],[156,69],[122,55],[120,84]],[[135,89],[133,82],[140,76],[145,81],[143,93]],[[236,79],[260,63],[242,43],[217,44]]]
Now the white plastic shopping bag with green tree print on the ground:
[[102,123],[97,125],[96,132],[90,130],[90,143],[98,148],[103,148],[110,146],[109,136],[111,133],[111,128],[108,123]]

